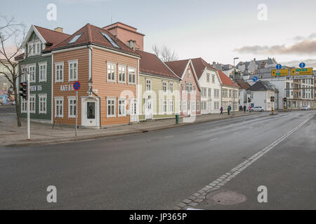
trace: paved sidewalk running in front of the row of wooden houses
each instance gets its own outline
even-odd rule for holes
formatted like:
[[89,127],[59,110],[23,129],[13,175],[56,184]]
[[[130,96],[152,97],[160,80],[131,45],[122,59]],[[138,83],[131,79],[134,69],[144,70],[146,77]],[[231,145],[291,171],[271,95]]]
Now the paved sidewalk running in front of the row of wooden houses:
[[[258,114],[258,113],[251,113]],[[227,118],[236,118],[240,116],[248,116],[244,112],[236,112],[235,116],[223,116],[219,114],[197,116],[194,123],[202,123],[211,120],[222,120]],[[182,122],[180,118],[180,122]],[[55,144],[69,141],[80,141],[86,139],[97,139],[101,137],[111,137],[121,134],[134,134],[141,132],[150,132],[154,130],[162,130],[172,127],[180,127],[183,125],[191,125],[192,123],[180,123],[176,125],[176,119],[152,120],[140,122],[132,125],[120,125],[107,127],[103,129],[79,129],[77,138],[74,138],[74,127],[55,126],[52,130],[51,124],[34,123],[31,121],[31,140],[27,140],[27,124],[26,120],[22,120],[22,127],[16,126],[15,113],[1,113],[0,116],[0,146],[27,146],[40,144]]]

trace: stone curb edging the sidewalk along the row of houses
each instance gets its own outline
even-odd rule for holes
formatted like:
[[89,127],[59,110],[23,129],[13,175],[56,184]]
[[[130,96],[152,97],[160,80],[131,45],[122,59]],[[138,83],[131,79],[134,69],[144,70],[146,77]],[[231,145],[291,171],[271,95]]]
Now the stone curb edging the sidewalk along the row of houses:
[[[124,135],[129,135],[129,134],[139,134],[139,133],[144,133],[144,132],[154,132],[154,131],[159,131],[159,130],[165,130],[165,129],[170,129],[170,128],[175,128],[175,127],[183,127],[187,125],[194,125],[194,124],[199,124],[199,123],[207,123],[211,121],[216,121],[216,120],[225,120],[229,118],[240,118],[240,117],[245,117],[247,115],[240,115],[240,116],[230,116],[230,117],[223,117],[223,118],[216,118],[216,119],[210,119],[210,120],[199,120],[194,123],[180,123],[180,124],[173,124],[173,125],[167,125],[163,127],[157,127],[157,128],[152,128],[152,129],[143,129],[143,130],[131,130],[123,133],[117,133],[117,134],[100,134],[96,136],[85,136],[85,137],[80,137],[75,139],[75,138],[67,138],[67,139],[49,139],[49,140],[44,140],[44,141],[28,141],[28,142],[21,142],[21,143],[15,143],[15,144],[7,144],[4,145],[4,147],[16,147],[16,146],[39,146],[39,145],[49,145],[49,144],[60,144],[60,143],[68,143],[68,142],[74,142],[74,141],[86,141],[86,140],[91,140],[91,139],[102,139],[105,137],[117,137],[117,136],[124,136]],[[253,116],[249,115],[249,116]],[[265,115],[268,116],[268,115]],[[27,141],[27,140],[25,140]]]

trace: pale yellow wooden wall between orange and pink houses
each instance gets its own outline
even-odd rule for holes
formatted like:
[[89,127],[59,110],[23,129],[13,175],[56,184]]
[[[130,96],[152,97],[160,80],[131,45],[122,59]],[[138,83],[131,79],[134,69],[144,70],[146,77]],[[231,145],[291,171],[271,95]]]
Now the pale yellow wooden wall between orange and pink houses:
[[[150,79],[152,82],[152,91],[146,91],[146,80]],[[162,92],[162,83],[167,83],[167,92]],[[173,93],[169,92],[169,83],[173,83]],[[179,113],[179,80],[173,80],[169,78],[148,76],[140,73],[140,102],[139,112],[140,120],[145,120],[145,99],[149,96],[152,99],[152,118],[174,118],[176,113]],[[167,112],[163,113],[162,101],[167,101]],[[173,111],[169,111],[169,101],[173,100]]]

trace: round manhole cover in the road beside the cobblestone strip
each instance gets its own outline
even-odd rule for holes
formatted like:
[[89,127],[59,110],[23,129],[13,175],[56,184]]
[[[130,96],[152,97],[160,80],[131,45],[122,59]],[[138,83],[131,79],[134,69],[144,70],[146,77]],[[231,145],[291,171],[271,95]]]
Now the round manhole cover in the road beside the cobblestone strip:
[[209,193],[206,198],[215,204],[238,204],[246,201],[246,196],[233,191]]

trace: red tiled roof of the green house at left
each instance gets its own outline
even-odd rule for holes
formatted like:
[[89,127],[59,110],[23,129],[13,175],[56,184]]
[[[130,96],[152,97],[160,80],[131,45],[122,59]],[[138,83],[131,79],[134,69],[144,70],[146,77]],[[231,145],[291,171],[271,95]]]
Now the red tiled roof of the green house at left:
[[34,26],[37,31],[39,31],[39,34],[41,34],[41,36],[43,36],[43,38],[45,39],[45,41],[47,43],[51,43],[52,45],[46,47],[43,51],[49,51],[51,50],[56,44],[60,43],[61,41],[65,40],[65,38],[70,37],[69,34],[64,34],[52,29],[46,29],[44,27],[38,27],[38,26]]

